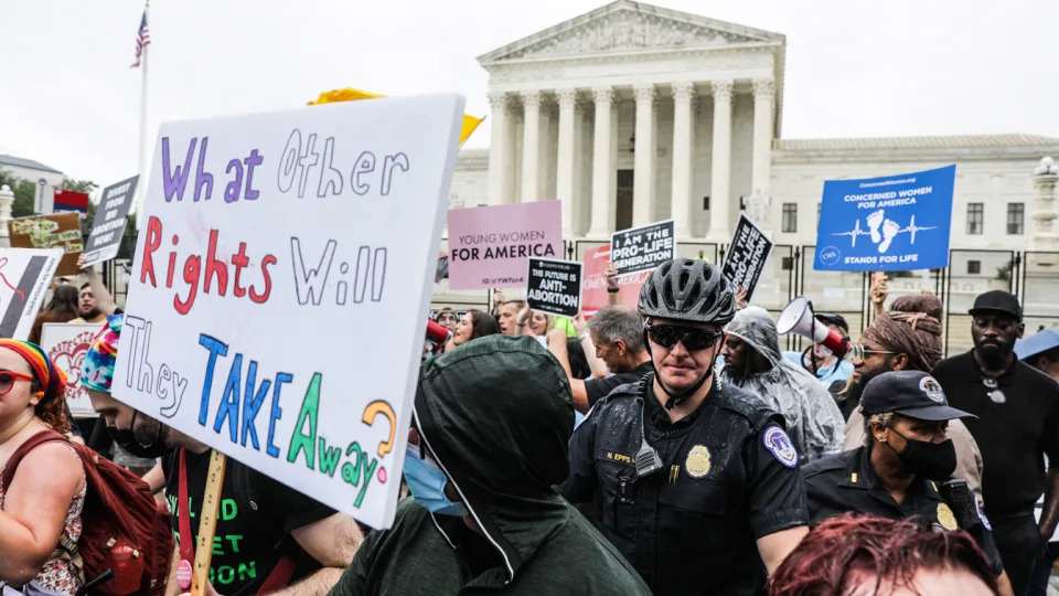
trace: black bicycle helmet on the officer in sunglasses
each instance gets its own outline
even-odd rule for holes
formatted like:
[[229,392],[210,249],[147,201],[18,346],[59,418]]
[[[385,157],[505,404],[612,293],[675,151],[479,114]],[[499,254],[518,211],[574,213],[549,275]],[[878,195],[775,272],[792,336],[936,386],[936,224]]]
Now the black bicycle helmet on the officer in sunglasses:
[[677,257],[659,265],[640,288],[640,313],[725,326],[736,316],[736,297],[716,266]]

